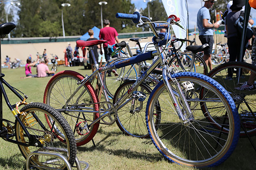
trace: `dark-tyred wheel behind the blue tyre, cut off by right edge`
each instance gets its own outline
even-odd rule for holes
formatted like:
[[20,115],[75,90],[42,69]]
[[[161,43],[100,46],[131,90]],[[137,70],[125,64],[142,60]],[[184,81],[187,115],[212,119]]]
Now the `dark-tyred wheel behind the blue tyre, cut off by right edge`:
[[[238,70],[241,75],[238,82]],[[233,77],[227,77],[228,69],[233,69]],[[240,121],[250,136],[256,135],[256,91],[239,91],[243,82],[247,82],[251,73],[256,73],[256,67],[245,62],[227,62],[221,64],[208,73],[208,76],[215,79],[230,93],[236,103]],[[255,116],[255,117],[254,117]],[[245,131],[241,128],[240,137],[246,137]]]

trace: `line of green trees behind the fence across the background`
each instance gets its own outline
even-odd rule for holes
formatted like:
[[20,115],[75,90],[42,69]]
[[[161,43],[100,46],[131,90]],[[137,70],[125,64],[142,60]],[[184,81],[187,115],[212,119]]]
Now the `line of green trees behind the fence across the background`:
[[[93,26],[101,28],[100,5],[102,0],[19,0],[17,28],[11,37],[56,37],[62,36],[61,12],[63,10],[63,22],[66,36],[83,35]],[[103,19],[108,19],[110,25],[118,31],[136,32],[148,30],[147,26],[137,28],[131,20],[117,19],[116,13],[134,13],[135,5],[131,0],[105,0],[108,4],[102,6]],[[191,0],[188,0],[188,2]],[[218,0],[211,9],[226,9],[228,0]],[[4,9],[7,0],[0,0],[0,22],[6,22]],[[62,7],[61,4],[70,3],[70,7]],[[150,16],[153,21],[166,20],[167,14],[161,0],[147,2],[150,7]],[[140,13],[148,16],[148,6],[140,9]],[[189,4],[188,4],[189,7]],[[14,10],[8,11],[9,22],[14,22]]]

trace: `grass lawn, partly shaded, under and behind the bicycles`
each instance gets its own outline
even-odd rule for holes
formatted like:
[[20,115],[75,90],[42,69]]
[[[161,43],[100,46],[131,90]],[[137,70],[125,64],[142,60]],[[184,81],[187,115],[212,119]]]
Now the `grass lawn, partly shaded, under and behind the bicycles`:
[[[58,71],[65,69],[77,71],[83,75],[91,74],[91,70],[84,70],[83,66],[58,67]],[[20,79],[25,75],[25,68],[2,69],[5,80],[15,88],[29,96],[29,102],[43,102],[45,86],[51,77]],[[36,74],[36,68],[32,68]],[[118,88],[118,87],[116,87]],[[7,95],[11,104],[18,102],[9,90]],[[3,104],[3,117],[14,121],[14,117]],[[256,137],[251,138],[256,144]],[[77,157],[90,165],[90,170],[192,170],[170,163],[156,150],[150,139],[138,139],[122,135],[116,124],[111,126],[100,125],[94,137],[96,148],[90,141],[78,147]],[[256,167],[256,152],[247,138],[241,138],[231,157],[220,166],[205,168],[208,170],[254,170]],[[0,170],[23,170],[25,159],[16,144],[0,140]]]

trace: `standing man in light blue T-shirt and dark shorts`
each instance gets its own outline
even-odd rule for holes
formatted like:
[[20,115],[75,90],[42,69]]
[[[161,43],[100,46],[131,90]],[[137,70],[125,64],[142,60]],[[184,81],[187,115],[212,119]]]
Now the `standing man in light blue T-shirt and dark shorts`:
[[217,0],[203,0],[204,7],[200,8],[197,13],[197,27],[199,31],[199,40],[202,44],[209,44],[207,50],[204,51],[204,61],[209,66],[210,70],[213,69],[211,64],[211,53],[213,51],[213,28],[219,28],[220,24],[215,22],[211,23],[211,16],[209,12],[209,8],[213,7],[213,4]]

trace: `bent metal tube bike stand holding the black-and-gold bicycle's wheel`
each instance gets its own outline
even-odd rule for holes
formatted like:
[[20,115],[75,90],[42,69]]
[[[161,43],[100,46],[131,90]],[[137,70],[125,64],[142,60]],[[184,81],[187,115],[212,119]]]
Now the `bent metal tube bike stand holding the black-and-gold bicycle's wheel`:
[[[47,147],[47,150],[48,151],[56,151],[57,150],[57,151],[63,152],[63,153],[68,152],[66,149],[63,149],[63,148],[48,148]],[[52,162],[59,161],[61,159],[65,163],[65,165],[66,165],[68,170],[72,170],[72,167],[73,168],[77,168],[77,170],[82,170],[81,163],[86,165],[86,168],[84,168],[83,170],[87,170],[89,168],[89,164],[87,162],[79,161],[77,157],[75,158],[76,166],[71,166],[70,163],[68,162],[68,159],[65,156],[63,156],[62,154],[60,154],[60,153],[46,152],[46,151],[43,151],[43,150],[36,150],[34,152],[29,153],[29,155],[27,156],[27,159],[26,159],[26,170],[29,170],[32,167],[34,167],[34,168],[43,168],[43,169],[48,169],[48,170],[59,170],[59,169],[56,169],[56,168],[44,167],[44,166],[36,166],[36,165],[30,164],[31,158],[34,155],[57,157],[57,159],[53,159],[53,160],[50,160],[50,161],[42,162],[45,165],[46,164],[51,164]]]

